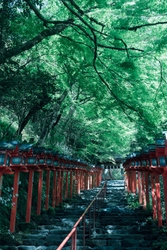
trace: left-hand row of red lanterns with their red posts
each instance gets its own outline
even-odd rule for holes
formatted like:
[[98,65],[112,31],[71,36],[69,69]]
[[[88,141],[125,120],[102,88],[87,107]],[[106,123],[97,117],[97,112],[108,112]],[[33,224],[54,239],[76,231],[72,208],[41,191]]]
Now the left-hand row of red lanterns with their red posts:
[[[0,147],[0,196],[2,190],[3,175],[14,174],[10,232],[15,231],[17,199],[18,199],[18,189],[19,189],[18,183],[19,183],[20,172],[29,172],[26,222],[30,222],[34,171],[39,172],[37,215],[40,215],[43,170],[47,171],[46,205],[45,205],[46,209],[48,209],[48,200],[49,200],[50,171],[53,171],[54,173],[54,188],[53,188],[54,195],[56,192],[62,192],[61,187],[63,182],[63,173],[65,172],[66,172],[67,190],[68,190],[68,173],[70,172],[70,197],[72,196],[71,189],[72,189],[73,171],[75,172],[76,176],[78,176],[78,180],[80,180],[81,177],[84,176],[84,174],[87,175],[95,174],[97,177],[96,185],[100,185],[101,182],[102,169],[100,166],[93,167],[92,165],[89,165],[86,162],[81,162],[80,160],[75,160],[70,157],[58,155],[57,153],[52,152],[52,150],[48,150],[43,147],[25,148],[19,146],[18,144],[12,146],[11,148],[1,146]],[[59,187],[56,187],[56,185],[58,185]],[[58,194],[58,196],[61,203],[62,195]],[[58,204],[59,202],[56,205]],[[53,197],[53,206],[55,206],[54,197]]]

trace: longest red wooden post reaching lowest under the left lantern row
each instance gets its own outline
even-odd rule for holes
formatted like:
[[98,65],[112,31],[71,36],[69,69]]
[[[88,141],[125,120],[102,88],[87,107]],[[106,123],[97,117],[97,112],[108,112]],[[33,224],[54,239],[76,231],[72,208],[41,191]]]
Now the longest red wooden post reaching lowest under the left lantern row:
[[10,215],[10,232],[15,231],[16,225],[16,212],[17,212],[17,200],[18,200],[18,191],[19,191],[19,177],[20,170],[16,169],[14,173],[14,183],[13,183],[13,197],[12,197],[12,209]]

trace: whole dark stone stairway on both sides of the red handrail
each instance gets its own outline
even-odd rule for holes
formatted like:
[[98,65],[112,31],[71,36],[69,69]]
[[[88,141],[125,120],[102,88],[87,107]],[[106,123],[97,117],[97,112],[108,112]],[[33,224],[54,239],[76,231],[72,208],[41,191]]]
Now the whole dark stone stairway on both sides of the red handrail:
[[[83,191],[73,204],[66,203],[63,211],[55,215],[44,214],[37,229],[21,234],[21,239],[13,246],[2,245],[0,250],[56,250],[71,231],[72,226],[91,202],[99,188]],[[86,223],[89,217],[86,218]],[[151,250],[155,241],[167,240],[167,234],[159,233],[151,216],[143,209],[129,208],[124,181],[108,181],[106,198],[96,215],[95,228],[83,248],[82,225],[77,231],[77,250]],[[70,250],[70,242],[63,248]]]

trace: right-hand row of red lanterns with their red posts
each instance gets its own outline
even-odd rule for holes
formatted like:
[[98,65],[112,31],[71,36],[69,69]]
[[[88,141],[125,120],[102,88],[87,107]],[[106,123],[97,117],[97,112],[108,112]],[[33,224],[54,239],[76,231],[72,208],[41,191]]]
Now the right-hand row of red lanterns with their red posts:
[[[155,139],[146,150],[129,155],[123,163],[127,191],[138,191],[139,203],[143,208],[149,206],[152,197],[153,219],[162,226],[162,208],[160,195],[160,175],[163,178],[165,213],[167,224],[167,139]],[[151,192],[150,192],[151,190]]]

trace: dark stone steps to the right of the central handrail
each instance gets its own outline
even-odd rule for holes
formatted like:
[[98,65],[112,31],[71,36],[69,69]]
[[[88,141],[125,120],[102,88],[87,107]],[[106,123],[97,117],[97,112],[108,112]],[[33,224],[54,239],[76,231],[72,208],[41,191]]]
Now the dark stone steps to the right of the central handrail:
[[[123,184],[123,183],[122,183]],[[100,210],[98,230],[92,237],[94,250],[151,250],[153,239],[143,209],[127,206],[121,181],[108,183],[106,199]],[[96,229],[95,229],[96,230]]]

